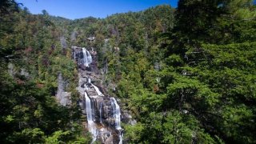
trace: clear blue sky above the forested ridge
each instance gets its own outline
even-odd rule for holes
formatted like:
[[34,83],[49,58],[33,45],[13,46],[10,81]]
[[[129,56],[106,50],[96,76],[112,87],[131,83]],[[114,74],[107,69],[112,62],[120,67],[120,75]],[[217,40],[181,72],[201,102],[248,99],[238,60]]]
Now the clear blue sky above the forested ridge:
[[168,4],[177,7],[178,0],[16,0],[32,14],[49,14],[64,18],[106,18],[107,15],[145,10],[151,6]]

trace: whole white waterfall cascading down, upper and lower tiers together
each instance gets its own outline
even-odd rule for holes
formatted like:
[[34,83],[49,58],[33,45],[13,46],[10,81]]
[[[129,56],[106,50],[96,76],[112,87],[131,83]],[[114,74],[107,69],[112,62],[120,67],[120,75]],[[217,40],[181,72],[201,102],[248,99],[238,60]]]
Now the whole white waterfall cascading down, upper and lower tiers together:
[[[89,51],[86,50],[86,48],[76,46],[74,46],[73,49],[74,60],[77,62],[79,68],[81,68],[81,71],[79,70],[79,92],[83,94],[84,90],[86,90],[84,93],[85,99],[83,101],[86,103],[86,106],[83,108],[84,110],[86,109],[87,130],[89,130],[92,135],[92,143],[96,140],[101,141],[102,143],[116,142],[119,139],[119,144],[122,144],[123,133],[120,122],[121,111],[116,99],[104,97],[104,94],[102,94],[102,91],[100,91],[98,86],[94,86],[91,83],[90,78],[92,78],[91,76],[93,75],[89,75],[85,72],[88,70],[86,67],[89,67],[93,62],[92,57],[94,57],[94,54],[97,54],[96,51],[94,52],[93,48]],[[94,66],[92,66],[92,68],[94,68]],[[110,114],[110,110],[113,115]],[[108,121],[109,119],[110,121]],[[114,121],[114,126],[111,126],[111,123],[113,122],[112,120]],[[110,138],[111,133],[114,135],[118,134],[119,138],[116,138],[115,136]]]

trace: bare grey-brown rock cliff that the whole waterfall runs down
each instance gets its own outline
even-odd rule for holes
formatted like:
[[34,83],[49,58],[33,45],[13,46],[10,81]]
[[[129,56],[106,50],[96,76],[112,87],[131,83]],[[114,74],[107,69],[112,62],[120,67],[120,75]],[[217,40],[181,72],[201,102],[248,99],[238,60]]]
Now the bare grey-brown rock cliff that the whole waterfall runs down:
[[[73,46],[72,51],[73,58],[79,66],[77,90],[82,97],[79,104],[82,106],[82,113],[87,117],[87,128],[94,135],[94,140],[106,144],[122,143],[123,130],[120,121],[124,120],[130,124],[134,124],[136,121],[132,120],[128,111],[122,114],[116,99],[111,98],[102,86],[96,84],[102,82],[101,76],[98,74],[97,53],[94,49],[87,50],[92,58],[92,62],[89,64],[85,63],[88,61],[85,60],[84,48]],[[90,58],[90,56],[86,55],[86,58]],[[94,122],[94,126],[91,122]]]

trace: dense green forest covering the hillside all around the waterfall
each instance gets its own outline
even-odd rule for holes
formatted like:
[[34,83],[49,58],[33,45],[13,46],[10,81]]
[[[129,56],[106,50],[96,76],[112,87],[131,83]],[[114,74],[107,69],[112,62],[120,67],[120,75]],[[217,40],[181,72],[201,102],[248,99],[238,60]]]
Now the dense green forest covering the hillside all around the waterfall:
[[[137,120],[122,123],[126,142],[256,143],[254,1],[179,0],[70,20],[2,0],[0,142],[90,143],[71,46],[97,50],[105,86]],[[70,106],[55,99],[58,74]]]

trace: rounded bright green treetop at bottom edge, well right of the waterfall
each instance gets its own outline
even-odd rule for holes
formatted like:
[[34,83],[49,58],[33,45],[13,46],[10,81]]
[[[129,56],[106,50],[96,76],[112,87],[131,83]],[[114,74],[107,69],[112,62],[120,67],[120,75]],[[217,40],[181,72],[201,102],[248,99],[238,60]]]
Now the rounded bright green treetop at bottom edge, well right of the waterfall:
[[217,143],[210,134],[200,129],[199,122],[192,115],[183,115],[178,111],[171,111],[163,123],[165,143]]

